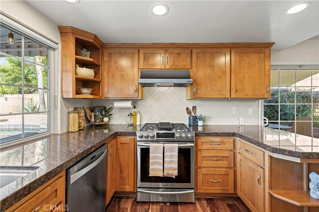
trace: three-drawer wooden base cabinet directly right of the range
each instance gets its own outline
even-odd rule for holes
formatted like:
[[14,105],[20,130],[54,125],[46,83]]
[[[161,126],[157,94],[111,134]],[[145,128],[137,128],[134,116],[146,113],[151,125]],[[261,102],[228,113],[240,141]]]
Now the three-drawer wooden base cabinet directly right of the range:
[[232,137],[196,138],[197,193],[235,193],[234,140]]

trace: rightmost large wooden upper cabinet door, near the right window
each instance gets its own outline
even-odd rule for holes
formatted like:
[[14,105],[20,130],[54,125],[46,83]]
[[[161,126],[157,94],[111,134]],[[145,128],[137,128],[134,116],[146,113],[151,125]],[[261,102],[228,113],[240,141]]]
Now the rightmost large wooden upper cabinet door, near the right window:
[[270,48],[231,49],[231,98],[270,98]]

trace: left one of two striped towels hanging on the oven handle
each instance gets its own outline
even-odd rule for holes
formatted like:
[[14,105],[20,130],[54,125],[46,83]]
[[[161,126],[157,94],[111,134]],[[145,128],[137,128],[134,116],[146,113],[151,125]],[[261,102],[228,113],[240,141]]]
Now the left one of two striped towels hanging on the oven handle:
[[163,144],[150,144],[150,177],[163,176]]

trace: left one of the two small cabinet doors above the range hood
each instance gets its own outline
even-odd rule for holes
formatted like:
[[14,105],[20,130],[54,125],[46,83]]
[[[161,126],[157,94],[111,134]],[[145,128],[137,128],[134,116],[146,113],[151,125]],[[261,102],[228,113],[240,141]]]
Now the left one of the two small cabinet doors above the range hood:
[[140,49],[140,69],[164,69],[165,49]]

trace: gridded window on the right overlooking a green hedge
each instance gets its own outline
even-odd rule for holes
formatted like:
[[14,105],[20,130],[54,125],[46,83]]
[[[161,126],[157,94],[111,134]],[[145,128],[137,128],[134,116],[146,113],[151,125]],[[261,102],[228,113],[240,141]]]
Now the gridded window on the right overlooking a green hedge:
[[269,127],[319,138],[319,70],[271,70],[264,116]]

